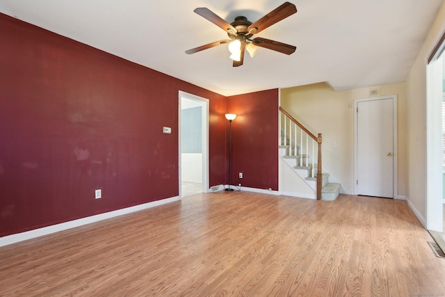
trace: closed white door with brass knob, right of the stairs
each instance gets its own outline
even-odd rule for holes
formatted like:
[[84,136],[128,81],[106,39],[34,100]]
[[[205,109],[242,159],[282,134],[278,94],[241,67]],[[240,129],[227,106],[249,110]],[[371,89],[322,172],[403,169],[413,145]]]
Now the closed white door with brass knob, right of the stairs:
[[394,197],[394,98],[356,102],[357,195]]

